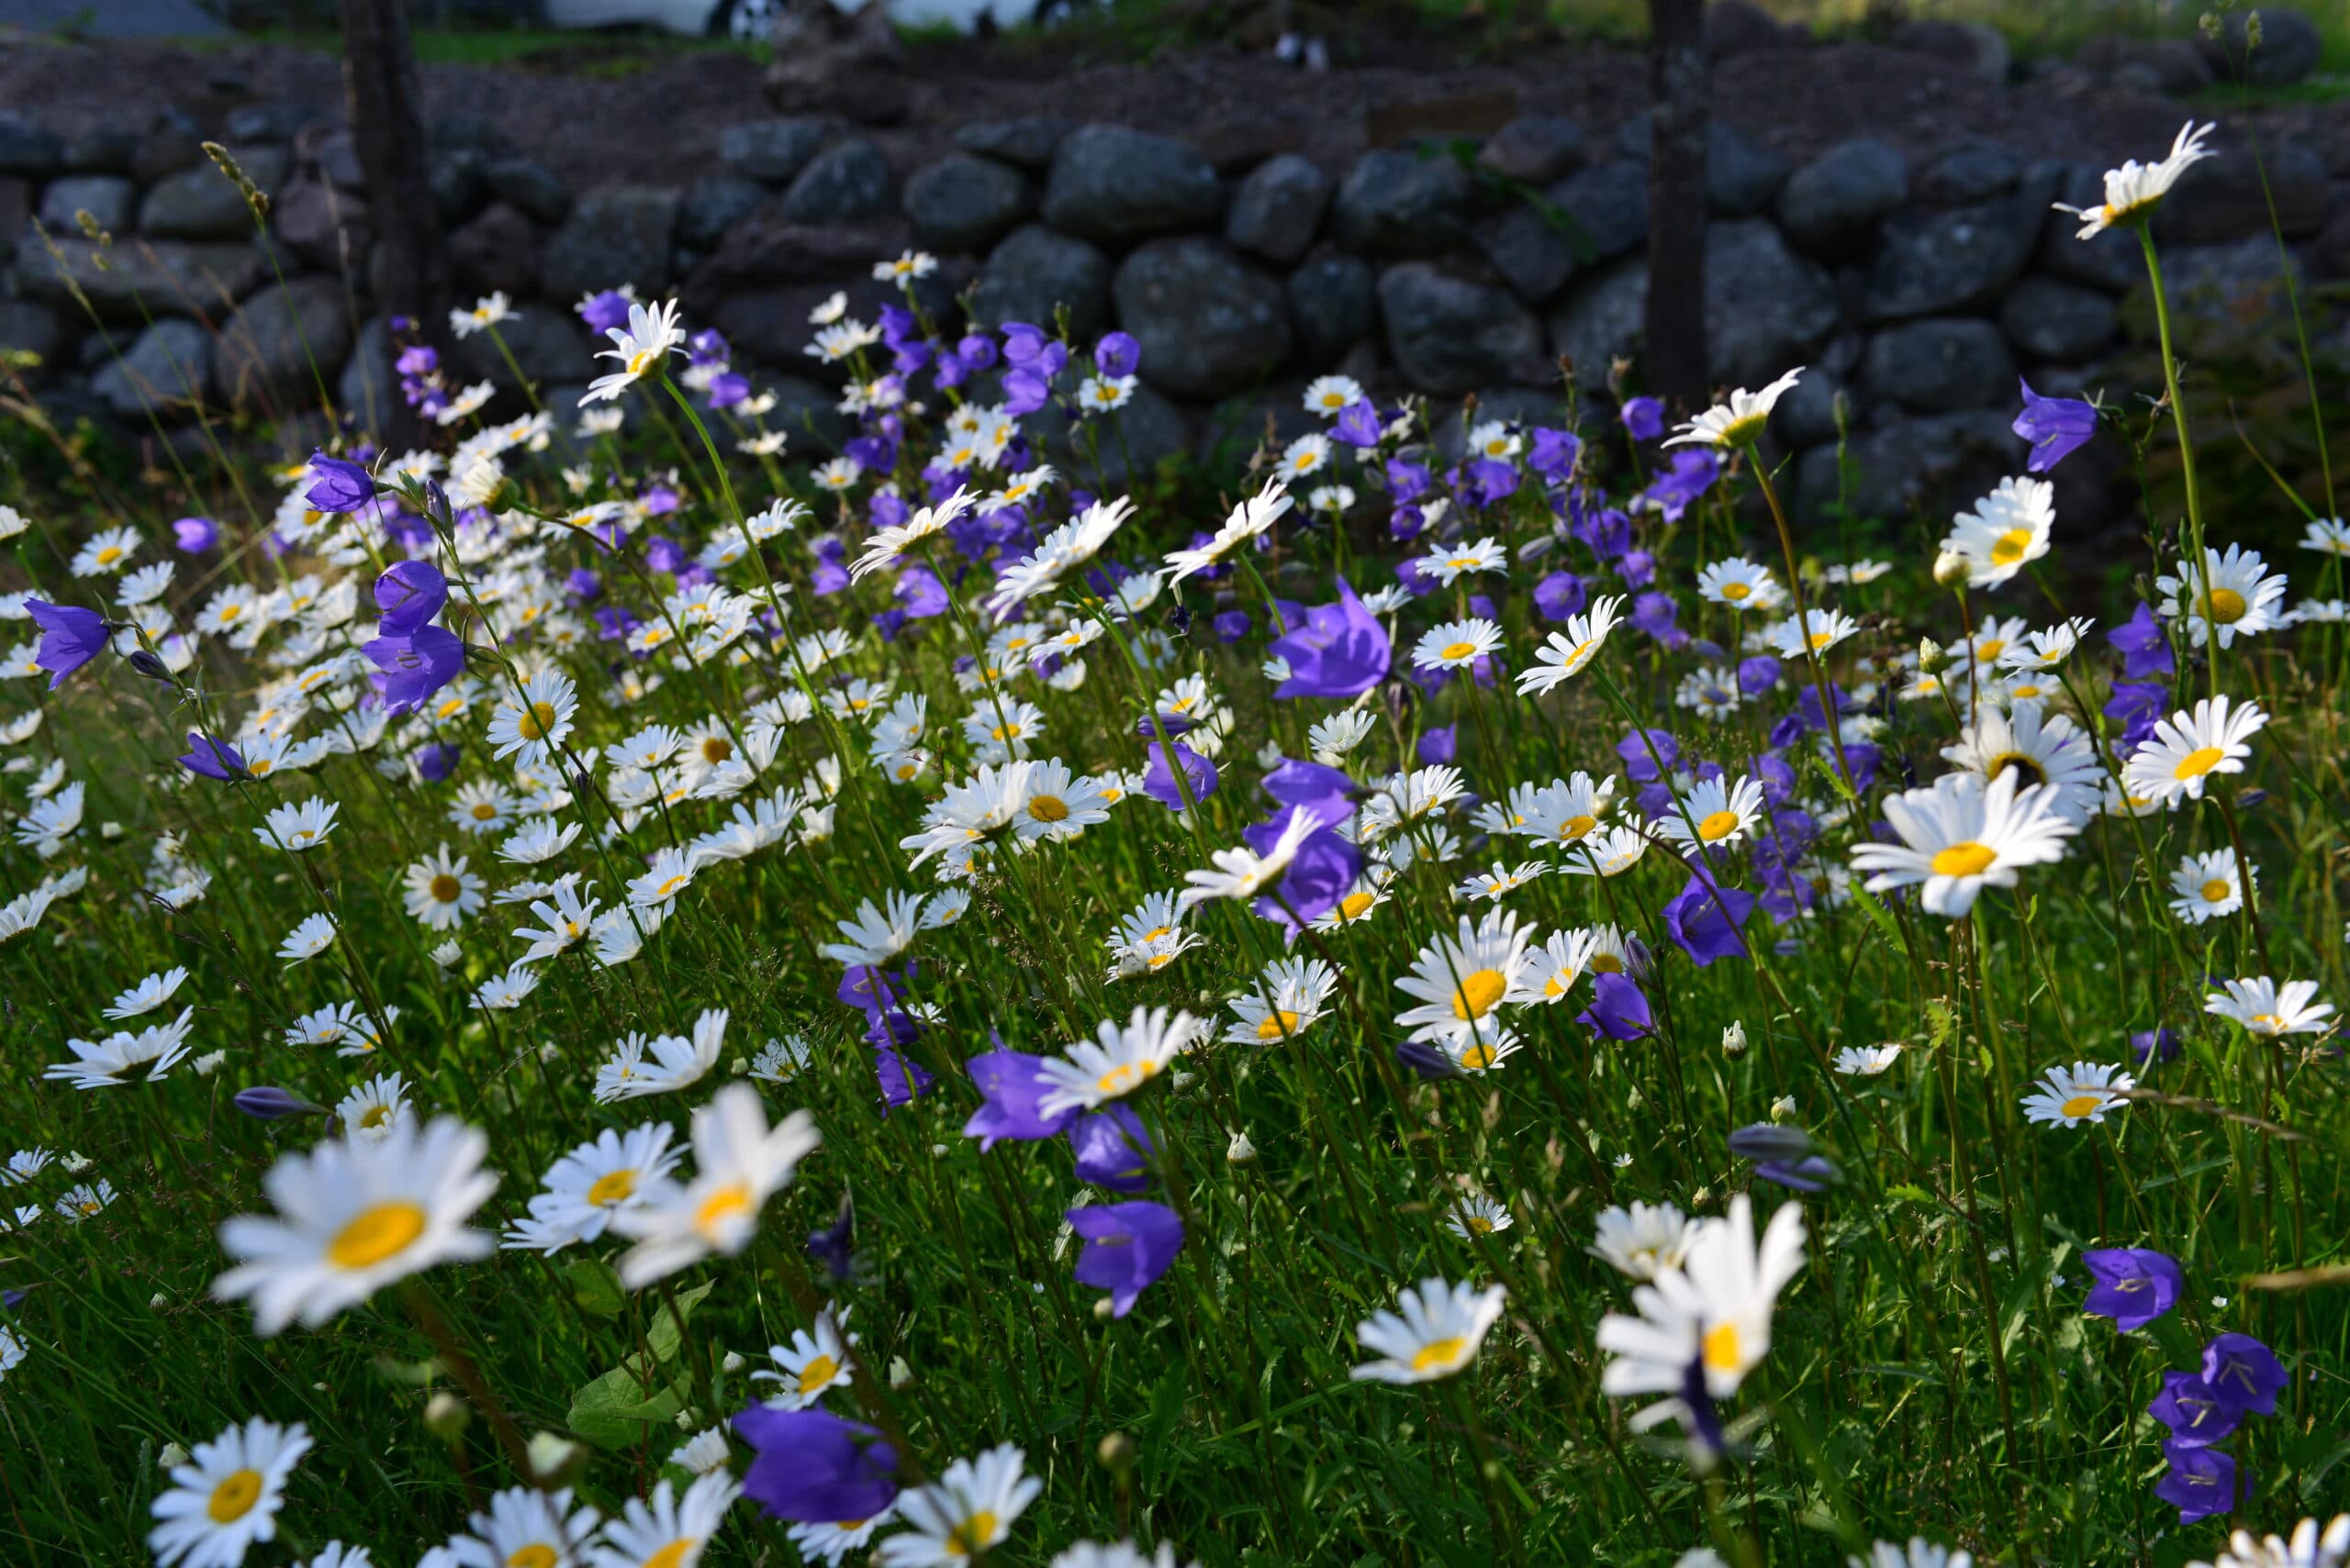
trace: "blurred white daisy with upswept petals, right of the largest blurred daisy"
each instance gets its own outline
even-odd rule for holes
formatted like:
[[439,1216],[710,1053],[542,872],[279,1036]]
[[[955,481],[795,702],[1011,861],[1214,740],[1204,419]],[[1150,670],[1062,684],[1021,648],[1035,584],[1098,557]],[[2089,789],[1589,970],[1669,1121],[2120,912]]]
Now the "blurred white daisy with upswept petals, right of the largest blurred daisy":
[[719,1089],[693,1113],[693,1178],[665,1181],[644,1207],[613,1214],[611,1228],[637,1242],[620,1256],[620,1284],[634,1291],[710,1253],[733,1256],[750,1246],[759,1209],[792,1183],[818,1143],[815,1117],[806,1110],[768,1127],[757,1089]]

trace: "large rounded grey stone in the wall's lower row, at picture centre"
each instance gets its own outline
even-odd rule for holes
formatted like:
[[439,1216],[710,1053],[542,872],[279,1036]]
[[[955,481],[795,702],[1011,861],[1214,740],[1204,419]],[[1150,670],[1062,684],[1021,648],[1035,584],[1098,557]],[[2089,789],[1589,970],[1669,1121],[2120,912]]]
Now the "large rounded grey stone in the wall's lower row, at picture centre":
[[1222,239],[1152,239],[1119,263],[1119,326],[1142,345],[1142,380],[1175,397],[1222,397],[1290,354],[1281,284]]

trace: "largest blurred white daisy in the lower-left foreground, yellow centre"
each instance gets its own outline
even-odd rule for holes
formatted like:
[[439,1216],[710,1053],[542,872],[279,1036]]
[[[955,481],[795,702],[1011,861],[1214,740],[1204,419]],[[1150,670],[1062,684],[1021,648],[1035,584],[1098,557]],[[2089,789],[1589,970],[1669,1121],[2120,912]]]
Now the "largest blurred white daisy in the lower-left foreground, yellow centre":
[[371,1143],[320,1143],[277,1157],[263,1190],[277,1216],[221,1225],[237,1265],[212,1282],[221,1300],[254,1300],[254,1331],[324,1324],[381,1286],[435,1263],[482,1258],[491,1237],[465,1221],[496,1190],[482,1171],[489,1138],[454,1117],[409,1120]]

